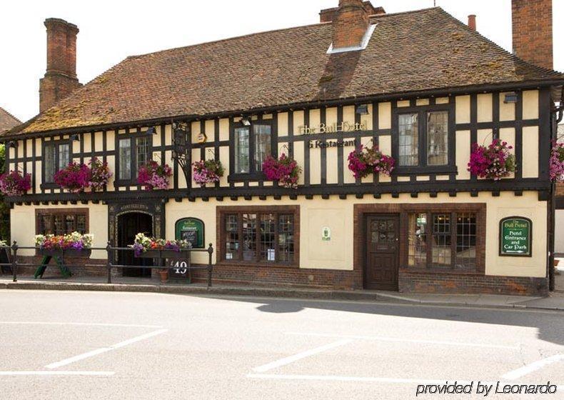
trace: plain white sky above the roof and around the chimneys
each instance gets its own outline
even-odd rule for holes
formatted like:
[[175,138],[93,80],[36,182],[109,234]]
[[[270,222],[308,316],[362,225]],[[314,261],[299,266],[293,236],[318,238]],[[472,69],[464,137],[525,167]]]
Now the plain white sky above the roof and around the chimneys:
[[[511,50],[511,0],[435,0],[460,21],[476,14],[480,34]],[[433,6],[433,0],[372,0],[395,13]],[[127,56],[260,31],[316,24],[338,0],[4,0],[0,6],[0,106],[22,121],[39,112],[39,79],[46,69],[46,18],[79,26],[76,68],[86,83]],[[553,0],[553,20],[564,1]],[[564,24],[553,24],[564,37]],[[554,67],[564,51],[554,40]]]

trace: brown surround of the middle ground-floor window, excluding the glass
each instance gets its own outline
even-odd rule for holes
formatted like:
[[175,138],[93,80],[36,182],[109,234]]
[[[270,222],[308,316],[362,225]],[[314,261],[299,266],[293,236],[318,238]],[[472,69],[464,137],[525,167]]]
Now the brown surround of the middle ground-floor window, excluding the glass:
[[[244,266],[264,266],[264,267],[284,267],[284,268],[299,268],[300,262],[300,206],[219,206],[216,208],[216,218],[219,222],[217,225],[217,263],[226,265],[244,265]],[[291,214],[293,216],[293,261],[292,262],[281,262],[281,261],[261,261],[258,260],[233,260],[226,259],[226,239],[227,232],[226,226],[226,216],[238,214],[238,219],[240,221],[241,214],[257,214],[256,224],[256,254],[260,257],[261,254],[261,214],[276,214],[276,236],[274,241],[276,242],[276,248],[278,249],[278,223],[279,216],[283,214]],[[241,229],[242,226],[239,224],[239,240],[241,241]],[[241,251],[241,247],[240,247]],[[278,254],[277,254],[278,257]]]

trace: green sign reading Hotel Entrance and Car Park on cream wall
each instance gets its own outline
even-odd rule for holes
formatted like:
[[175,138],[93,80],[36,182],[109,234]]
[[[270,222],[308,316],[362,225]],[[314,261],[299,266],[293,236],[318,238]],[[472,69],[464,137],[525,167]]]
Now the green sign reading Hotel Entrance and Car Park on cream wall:
[[531,255],[533,223],[528,218],[510,216],[500,221],[500,256]]

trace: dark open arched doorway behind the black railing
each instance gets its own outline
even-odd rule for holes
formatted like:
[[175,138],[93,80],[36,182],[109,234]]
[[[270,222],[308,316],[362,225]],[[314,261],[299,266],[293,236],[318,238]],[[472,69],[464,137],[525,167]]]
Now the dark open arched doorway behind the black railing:
[[[129,212],[118,216],[118,247],[126,247],[134,243],[135,235],[143,233],[153,236],[153,217],[140,212]],[[133,251],[118,251],[118,264],[121,265],[153,265],[152,259],[140,259]],[[151,277],[148,268],[124,268],[124,276]]]

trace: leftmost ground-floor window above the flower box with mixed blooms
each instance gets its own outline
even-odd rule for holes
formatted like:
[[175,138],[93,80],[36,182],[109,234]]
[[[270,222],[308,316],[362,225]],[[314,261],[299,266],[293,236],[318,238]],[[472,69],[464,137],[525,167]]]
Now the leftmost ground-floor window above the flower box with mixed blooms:
[[88,209],[36,210],[36,234],[89,233]]

